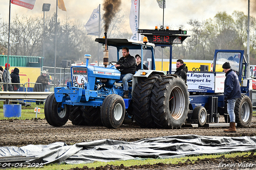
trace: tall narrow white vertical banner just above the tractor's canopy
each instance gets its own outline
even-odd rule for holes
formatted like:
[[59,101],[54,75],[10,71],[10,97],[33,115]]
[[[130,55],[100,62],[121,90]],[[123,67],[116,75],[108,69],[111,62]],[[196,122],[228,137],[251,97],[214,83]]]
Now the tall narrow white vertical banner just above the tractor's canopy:
[[138,34],[139,28],[139,2],[138,0],[131,0],[132,6],[130,11],[130,28],[132,30],[131,40],[141,40],[140,34]]

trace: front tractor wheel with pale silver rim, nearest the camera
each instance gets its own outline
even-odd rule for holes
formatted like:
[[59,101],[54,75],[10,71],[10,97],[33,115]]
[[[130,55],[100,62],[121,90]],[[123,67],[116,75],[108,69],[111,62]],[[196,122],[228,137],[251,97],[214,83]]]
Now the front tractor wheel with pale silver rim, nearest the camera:
[[101,107],[102,124],[107,128],[118,128],[122,125],[125,115],[124,99],[120,95],[108,95]]

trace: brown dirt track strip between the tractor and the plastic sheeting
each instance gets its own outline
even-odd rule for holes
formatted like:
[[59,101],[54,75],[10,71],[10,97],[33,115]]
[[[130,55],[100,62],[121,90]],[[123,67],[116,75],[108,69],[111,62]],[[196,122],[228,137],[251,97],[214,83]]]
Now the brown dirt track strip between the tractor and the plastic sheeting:
[[[224,122],[224,119],[220,119]],[[1,120],[0,146],[26,146],[28,144],[50,144],[65,142],[68,145],[100,139],[113,139],[133,142],[143,138],[196,134],[202,136],[255,136],[256,117],[250,127],[238,127],[236,133],[225,133],[224,128],[182,128],[148,129],[140,128],[136,123],[126,123],[117,129],[106,127],[75,126],[70,121],[63,127],[52,127],[45,119]]]

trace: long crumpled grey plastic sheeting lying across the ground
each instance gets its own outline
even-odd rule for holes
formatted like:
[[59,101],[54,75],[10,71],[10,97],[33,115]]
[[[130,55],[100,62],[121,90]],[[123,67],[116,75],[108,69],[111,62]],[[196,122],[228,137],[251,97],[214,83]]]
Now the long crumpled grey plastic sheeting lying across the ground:
[[174,158],[195,154],[218,154],[256,150],[256,136],[219,137],[177,135],[146,138],[136,142],[96,140],[68,146],[63,142],[48,145],[0,147],[1,156],[35,156],[31,163],[82,164],[136,158]]

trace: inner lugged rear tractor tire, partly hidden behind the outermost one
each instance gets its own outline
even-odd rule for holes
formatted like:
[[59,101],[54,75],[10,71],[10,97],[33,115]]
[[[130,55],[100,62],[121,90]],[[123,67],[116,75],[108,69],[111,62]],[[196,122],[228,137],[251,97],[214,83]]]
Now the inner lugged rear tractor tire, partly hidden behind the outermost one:
[[159,75],[151,75],[147,79],[139,79],[132,96],[134,120],[142,128],[154,128],[155,123],[150,111],[150,97]]

